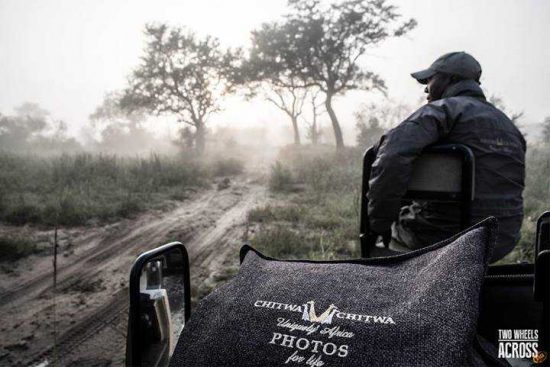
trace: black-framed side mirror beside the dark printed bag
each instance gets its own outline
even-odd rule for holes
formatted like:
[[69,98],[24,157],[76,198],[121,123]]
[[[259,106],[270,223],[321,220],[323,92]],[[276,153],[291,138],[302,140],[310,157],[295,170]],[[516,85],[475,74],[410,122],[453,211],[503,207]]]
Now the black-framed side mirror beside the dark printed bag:
[[141,254],[130,271],[126,366],[168,366],[191,315],[189,257],[180,242]]

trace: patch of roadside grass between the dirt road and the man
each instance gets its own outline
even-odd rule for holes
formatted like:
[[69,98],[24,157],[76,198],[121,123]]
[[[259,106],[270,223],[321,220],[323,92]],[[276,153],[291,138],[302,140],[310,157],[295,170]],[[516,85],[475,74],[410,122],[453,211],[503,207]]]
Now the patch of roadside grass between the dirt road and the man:
[[251,245],[285,259],[359,256],[361,154],[287,147],[271,168],[272,203],[249,212]]

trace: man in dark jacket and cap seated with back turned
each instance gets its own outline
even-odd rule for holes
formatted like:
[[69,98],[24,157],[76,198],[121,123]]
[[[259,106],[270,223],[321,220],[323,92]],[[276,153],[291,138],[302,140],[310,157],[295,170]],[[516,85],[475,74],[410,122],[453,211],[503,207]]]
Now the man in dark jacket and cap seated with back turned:
[[465,52],[441,56],[428,69],[411,74],[426,84],[428,103],[378,144],[369,181],[369,220],[375,233],[392,236],[416,249],[460,230],[460,211],[451,203],[414,202],[401,208],[413,161],[434,143],[465,144],[475,156],[475,223],[499,221],[493,260],[509,253],[519,240],[523,219],[525,140],[512,121],[487,102],[479,86],[481,66]]

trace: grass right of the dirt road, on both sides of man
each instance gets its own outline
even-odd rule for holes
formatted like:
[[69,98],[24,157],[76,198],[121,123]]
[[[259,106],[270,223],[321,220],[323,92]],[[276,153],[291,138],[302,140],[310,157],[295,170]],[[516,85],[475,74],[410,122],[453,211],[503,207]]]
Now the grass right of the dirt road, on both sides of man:
[[[251,244],[277,258],[358,257],[361,159],[354,148],[340,154],[331,147],[282,150],[270,177],[277,205],[249,212],[259,227]],[[526,159],[521,240],[500,263],[533,262],[536,221],[550,210],[550,144],[530,146]],[[291,192],[297,183],[303,192]]]

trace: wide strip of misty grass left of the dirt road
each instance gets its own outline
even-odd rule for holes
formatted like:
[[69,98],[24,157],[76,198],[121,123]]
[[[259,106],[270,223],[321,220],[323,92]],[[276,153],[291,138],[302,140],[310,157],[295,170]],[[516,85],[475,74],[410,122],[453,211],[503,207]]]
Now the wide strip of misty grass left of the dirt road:
[[0,153],[0,221],[67,227],[114,221],[185,199],[187,189],[214,176],[242,171],[235,159]]

